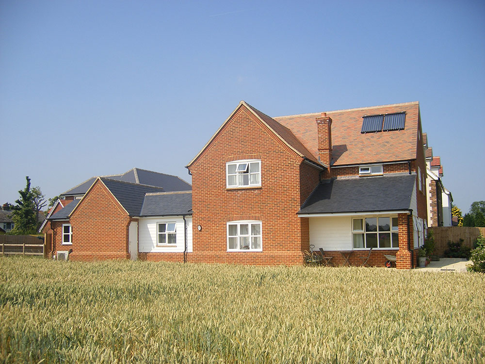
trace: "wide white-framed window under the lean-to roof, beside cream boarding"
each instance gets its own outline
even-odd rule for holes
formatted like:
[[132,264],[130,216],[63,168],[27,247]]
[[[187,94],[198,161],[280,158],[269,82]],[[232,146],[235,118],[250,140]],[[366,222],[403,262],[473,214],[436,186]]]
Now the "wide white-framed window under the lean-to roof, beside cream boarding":
[[352,219],[354,249],[399,248],[397,217],[362,217]]

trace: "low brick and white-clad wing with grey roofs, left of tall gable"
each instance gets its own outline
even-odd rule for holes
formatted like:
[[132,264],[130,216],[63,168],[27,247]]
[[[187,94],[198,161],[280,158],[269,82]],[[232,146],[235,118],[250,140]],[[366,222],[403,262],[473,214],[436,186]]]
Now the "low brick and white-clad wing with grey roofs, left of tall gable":
[[61,195],[42,231],[54,255],[71,251],[73,260],[156,260],[163,252],[183,261],[192,251],[190,189],[177,176],[139,168],[94,177]]

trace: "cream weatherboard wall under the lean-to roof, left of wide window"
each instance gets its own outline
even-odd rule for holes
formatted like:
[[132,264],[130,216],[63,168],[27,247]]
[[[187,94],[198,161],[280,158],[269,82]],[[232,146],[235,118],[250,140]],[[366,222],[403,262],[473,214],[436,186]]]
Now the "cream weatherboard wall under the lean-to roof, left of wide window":
[[[310,217],[310,244],[314,250],[352,250],[352,217]],[[354,216],[355,217],[355,216]]]

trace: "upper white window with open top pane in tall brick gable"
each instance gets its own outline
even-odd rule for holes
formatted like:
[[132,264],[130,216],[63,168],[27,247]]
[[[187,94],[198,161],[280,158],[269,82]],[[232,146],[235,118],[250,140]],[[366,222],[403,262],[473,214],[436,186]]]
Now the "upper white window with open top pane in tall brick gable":
[[226,187],[258,187],[261,185],[261,161],[226,163]]

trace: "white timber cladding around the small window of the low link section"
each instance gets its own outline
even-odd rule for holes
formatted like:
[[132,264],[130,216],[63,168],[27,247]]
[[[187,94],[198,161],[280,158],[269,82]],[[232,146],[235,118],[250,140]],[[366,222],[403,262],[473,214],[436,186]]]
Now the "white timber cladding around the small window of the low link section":
[[[192,216],[185,216],[187,221],[187,252],[192,252]],[[157,245],[158,224],[176,223],[176,244]],[[184,251],[184,222],[182,216],[141,217],[138,230],[138,251],[141,253],[181,253]]]

